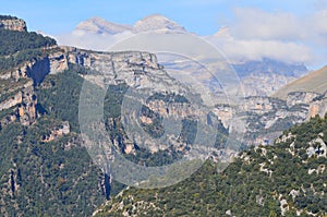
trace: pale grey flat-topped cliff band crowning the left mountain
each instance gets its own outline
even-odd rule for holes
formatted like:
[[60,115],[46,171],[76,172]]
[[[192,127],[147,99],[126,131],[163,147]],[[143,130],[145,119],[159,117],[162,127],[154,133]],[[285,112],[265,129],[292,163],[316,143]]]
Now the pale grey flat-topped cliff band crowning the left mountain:
[[158,83],[171,81],[153,53],[142,51],[92,52],[70,47],[64,49],[69,63],[98,72],[83,76],[99,86],[117,85],[123,82],[132,87],[147,85],[152,87],[155,82],[150,80],[157,80]]

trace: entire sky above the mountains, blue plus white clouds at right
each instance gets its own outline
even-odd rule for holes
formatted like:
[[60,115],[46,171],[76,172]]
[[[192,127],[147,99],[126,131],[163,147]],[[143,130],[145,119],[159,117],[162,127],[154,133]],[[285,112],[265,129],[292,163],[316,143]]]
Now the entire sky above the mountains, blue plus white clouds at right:
[[[134,24],[157,13],[206,36],[234,59],[327,64],[327,0],[0,0],[0,14],[22,17],[29,31],[52,36],[68,36],[92,16]],[[222,26],[228,31],[213,36]]]

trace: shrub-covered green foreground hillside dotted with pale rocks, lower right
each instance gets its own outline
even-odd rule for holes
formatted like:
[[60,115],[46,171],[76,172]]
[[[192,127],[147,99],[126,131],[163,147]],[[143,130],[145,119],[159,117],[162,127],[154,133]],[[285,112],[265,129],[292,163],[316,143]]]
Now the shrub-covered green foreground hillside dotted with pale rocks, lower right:
[[94,216],[327,215],[327,117],[284,131],[275,146],[241,153],[222,173],[207,161],[177,185],[129,188]]

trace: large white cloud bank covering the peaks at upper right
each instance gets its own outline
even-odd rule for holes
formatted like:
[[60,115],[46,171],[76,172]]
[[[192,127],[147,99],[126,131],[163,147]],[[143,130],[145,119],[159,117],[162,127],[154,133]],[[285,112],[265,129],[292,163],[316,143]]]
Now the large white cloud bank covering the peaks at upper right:
[[232,25],[207,37],[230,59],[271,58],[308,65],[327,59],[323,51],[327,46],[327,10],[305,16],[252,8],[234,12]]

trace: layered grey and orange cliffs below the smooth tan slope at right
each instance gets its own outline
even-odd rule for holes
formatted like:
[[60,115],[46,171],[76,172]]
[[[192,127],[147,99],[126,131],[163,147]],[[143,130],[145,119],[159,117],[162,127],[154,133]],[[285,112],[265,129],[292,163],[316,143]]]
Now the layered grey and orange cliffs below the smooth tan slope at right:
[[327,96],[305,92],[290,93],[286,100],[252,96],[238,107],[218,105],[216,112],[227,128],[235,113],[243,113],[246,120],[244,142],[250,145],[268,145],[291,125],[303,123],[315,116],[324,117],[327,112]]

